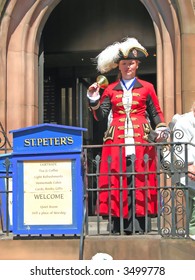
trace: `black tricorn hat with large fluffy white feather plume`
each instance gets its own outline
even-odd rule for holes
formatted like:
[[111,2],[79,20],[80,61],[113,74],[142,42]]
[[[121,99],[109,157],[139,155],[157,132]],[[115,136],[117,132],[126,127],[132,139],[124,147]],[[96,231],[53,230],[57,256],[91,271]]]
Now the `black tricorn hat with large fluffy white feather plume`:
[[97,57],[97,70],[106,73],[116,68],[120,60],[143,60],[148,53],[135,38],[125,38],[121,43],[115,42],[104,49]]

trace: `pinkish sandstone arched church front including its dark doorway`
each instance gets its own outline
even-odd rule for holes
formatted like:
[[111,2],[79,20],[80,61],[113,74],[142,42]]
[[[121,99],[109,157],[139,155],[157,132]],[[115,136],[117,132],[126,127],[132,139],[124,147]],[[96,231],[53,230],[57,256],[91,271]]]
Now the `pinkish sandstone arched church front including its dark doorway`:
[[[141,74],[152,74],[166,121],[187,112],[195,100],[194,0],[1,0],[0,121],[7,134],[48,121],[88,125],[84,91],[96,76],[90,58],[126,35],[151,49]],[[60,94],[50,120],[45,94],[53,69],[48,100]]]

